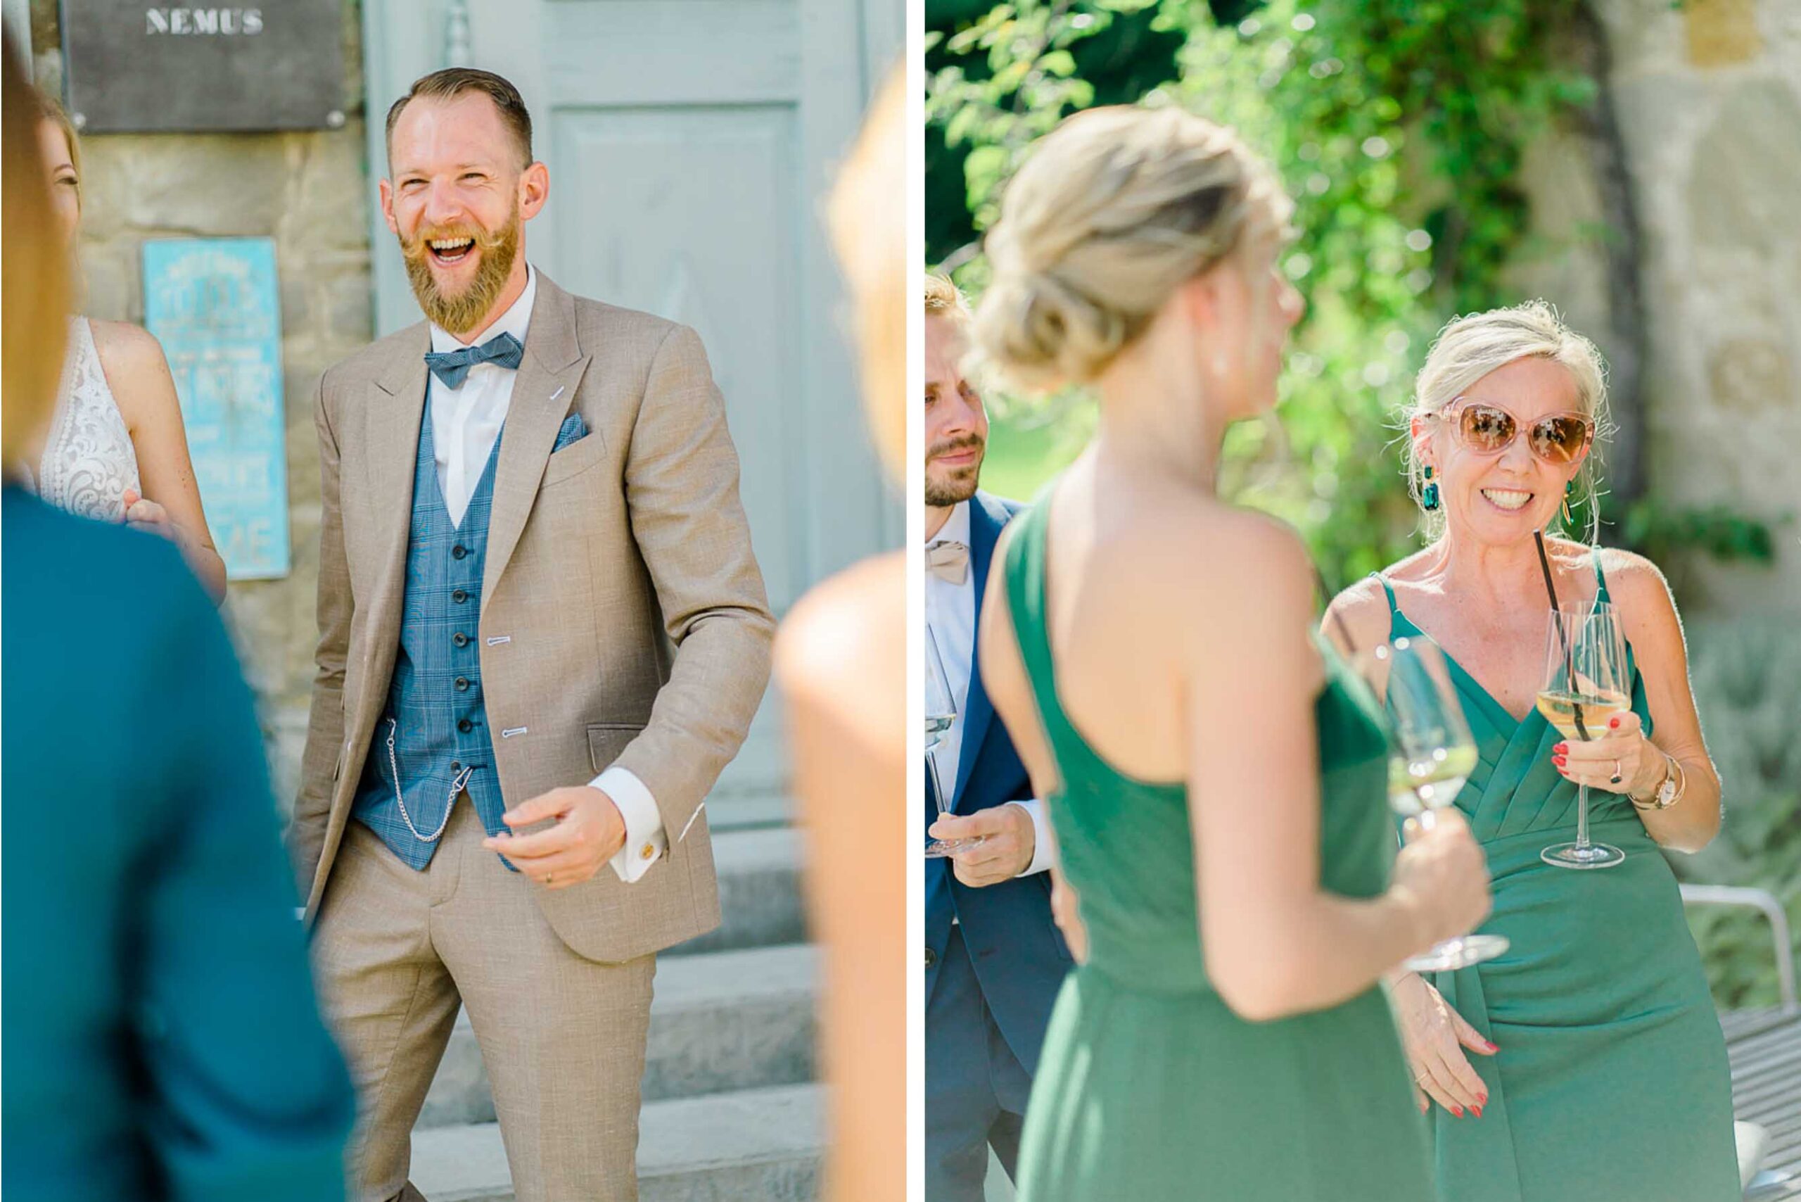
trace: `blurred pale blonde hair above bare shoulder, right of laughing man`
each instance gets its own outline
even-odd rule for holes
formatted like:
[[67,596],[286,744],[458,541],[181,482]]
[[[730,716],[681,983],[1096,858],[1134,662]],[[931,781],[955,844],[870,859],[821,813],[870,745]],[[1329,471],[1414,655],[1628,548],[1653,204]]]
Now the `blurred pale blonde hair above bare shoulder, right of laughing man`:
[[906,70],[895,67],[827,202],[850,281],[870,434],[899,479],[906,460]]

